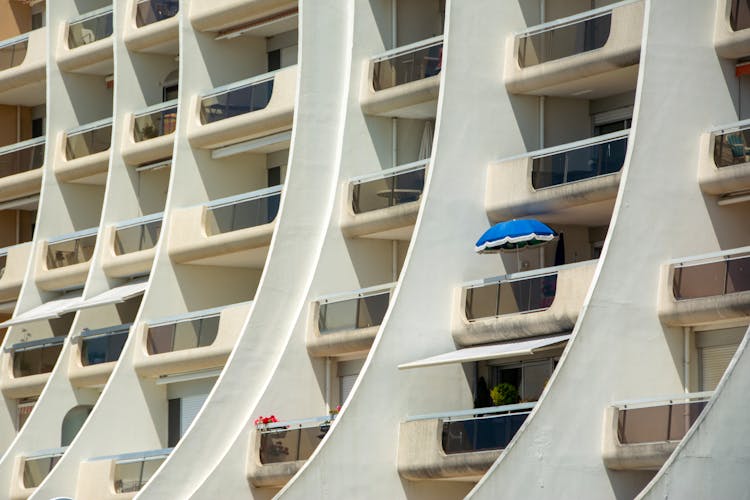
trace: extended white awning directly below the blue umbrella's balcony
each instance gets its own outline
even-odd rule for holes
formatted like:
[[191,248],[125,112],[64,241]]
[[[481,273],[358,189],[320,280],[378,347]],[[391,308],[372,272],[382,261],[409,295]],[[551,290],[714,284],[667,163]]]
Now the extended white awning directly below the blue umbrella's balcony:
[[519,340],[517,342],[503,342],[502,344],[481,345],[467,347],[457,351],[438,354],[419,361],[398,365],[399,370],[409,368],[422,368],[425,366],[447,365],[450,363],[468,363],[471,361],[482,361],[484,359],[502,359],[516,356],[530,356],[542,349],[549,349],[558,344],[567,342],[570,334],[553,335],[551,337]]

